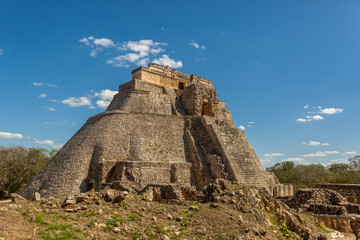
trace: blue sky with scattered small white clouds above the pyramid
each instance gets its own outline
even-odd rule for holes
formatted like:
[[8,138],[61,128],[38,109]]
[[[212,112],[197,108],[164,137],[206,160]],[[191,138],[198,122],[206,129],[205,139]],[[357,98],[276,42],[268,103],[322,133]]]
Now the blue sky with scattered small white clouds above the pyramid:
[[359,1],[0,2],[0,145],[59,148],[149,62],[211,79],[264,167],[360,153]]

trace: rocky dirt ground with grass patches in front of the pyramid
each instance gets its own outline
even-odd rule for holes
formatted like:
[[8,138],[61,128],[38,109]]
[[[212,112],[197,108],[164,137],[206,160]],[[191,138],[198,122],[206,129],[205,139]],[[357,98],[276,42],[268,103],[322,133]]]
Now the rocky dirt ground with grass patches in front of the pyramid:
[[159,203],[139,194],[113,203],[94,192],[71,208],[64,200],[0,202],[0,239],[302,239],[254,189],[208,203]]

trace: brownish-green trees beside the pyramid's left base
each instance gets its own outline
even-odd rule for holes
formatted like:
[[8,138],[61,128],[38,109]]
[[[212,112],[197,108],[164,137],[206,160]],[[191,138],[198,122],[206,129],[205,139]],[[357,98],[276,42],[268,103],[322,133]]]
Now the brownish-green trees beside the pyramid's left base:
[[57,151],[0,146],[0,198],[19,191]]

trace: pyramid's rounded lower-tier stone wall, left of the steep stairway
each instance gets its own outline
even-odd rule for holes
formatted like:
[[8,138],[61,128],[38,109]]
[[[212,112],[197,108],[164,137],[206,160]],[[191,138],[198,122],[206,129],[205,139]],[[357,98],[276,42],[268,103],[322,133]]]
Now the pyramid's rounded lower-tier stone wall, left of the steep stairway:
[[[186,162],[184,119],[179,116],[105,112],[90,118],[50,162],[26,185],[21,195],[32,199],[74,195],[88,189],[95,162]],[[145,151],[144,151],[145,149]],[[97,171],[106,176],[107,170]],[[104,178],[103,178],[104,179]]]

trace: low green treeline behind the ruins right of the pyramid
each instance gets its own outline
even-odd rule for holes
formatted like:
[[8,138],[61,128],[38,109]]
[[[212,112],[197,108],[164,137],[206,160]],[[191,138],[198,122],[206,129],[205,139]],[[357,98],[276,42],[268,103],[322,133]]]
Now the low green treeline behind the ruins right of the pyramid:
[[350,157],[349,163],[301,165],[293,162],[276,163],[266,168],[281,183],[290,183],[294,192],[301,188],[313,188],[318,183],[360,184],[360,155]]

